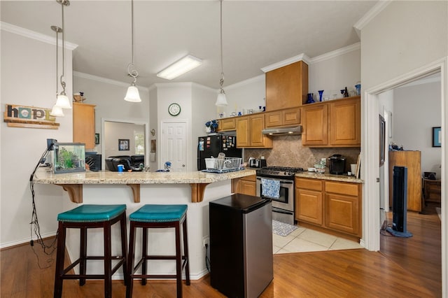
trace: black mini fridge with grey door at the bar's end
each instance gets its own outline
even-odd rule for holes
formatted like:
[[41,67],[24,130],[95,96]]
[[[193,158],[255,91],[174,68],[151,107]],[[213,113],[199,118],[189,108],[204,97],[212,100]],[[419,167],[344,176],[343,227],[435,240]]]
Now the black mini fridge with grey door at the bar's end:
[[211,286],[228,297],[258,297],[274,278],[272,202],[232,194],[209,203]]

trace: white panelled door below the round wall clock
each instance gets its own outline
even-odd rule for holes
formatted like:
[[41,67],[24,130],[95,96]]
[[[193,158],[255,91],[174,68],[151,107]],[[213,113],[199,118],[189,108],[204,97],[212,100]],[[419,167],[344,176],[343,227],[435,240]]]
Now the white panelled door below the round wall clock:
[[186,122],[162,122],[161,168],[171,162],[171,171],[187,171]]

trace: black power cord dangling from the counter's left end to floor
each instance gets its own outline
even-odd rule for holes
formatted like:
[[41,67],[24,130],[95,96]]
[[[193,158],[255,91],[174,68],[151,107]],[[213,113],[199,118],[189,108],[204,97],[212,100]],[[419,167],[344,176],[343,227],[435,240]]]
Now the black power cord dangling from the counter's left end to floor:
[[[33,182],[33,178],[34,178],[34,174],[36,173],[36,170],[38,169],[39,166],[41,166],[41,164],[45,163],[45,156],[48,154],[49,150],[48,148],[45,149],[45,151],[43,152],[41,158],[39,159],[38,163],[36,164],[36,167],[34,168],[33,173],[31,173],[31,176],[29,177],[29,188],[31,190],[31,205],[32,205],[32,214],[31,214],[31,222],[29,222],[30,225],[30,238],[31,240],[29,241],[29,245],[31,246],[31,249],[33,250],[34,255],[36,255],[37,258],[37,264],[39,269],[46,269],[51,267],[51,262],[53,262],[53,258],[50,257],[50,259],[47,260],[48,266],[46,267],[41,267],[41,263],[39,262],[39,257],[38,254],[36,253],[36,251],[34,250],[34,243],[38,243],[41,245],[41,248],[43,249],[43,253],[45,253],[45,255],[52,255],[55,250],[56,250],[56,241],[57,241],[57,235],[59,234],[58,232],[56,232],[56,236],[55,239],[50,243],[50,245],[45,245],[43,238],[41,236],[41,228],[39,227],[39,222],[38,222],[38,217],[37,217],[37,210],[36,210],[36,202],[34,201],[34,197],[35,197],[35,192],[34,192],[34,182]],[[36,236],[37,240],[34,241],[33,240],[33,233]],[[50,250],[51,248],[51,250]],[[50,251],[48,251],[50,250]]]

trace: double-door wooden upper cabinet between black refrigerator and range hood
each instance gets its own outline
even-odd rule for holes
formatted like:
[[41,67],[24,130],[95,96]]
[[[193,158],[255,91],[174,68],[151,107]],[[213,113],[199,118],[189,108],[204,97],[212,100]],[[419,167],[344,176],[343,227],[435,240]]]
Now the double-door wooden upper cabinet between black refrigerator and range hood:
[[272,148],[272,139],[262,134],[265,128],[263,113],[237,117],[238,148]]

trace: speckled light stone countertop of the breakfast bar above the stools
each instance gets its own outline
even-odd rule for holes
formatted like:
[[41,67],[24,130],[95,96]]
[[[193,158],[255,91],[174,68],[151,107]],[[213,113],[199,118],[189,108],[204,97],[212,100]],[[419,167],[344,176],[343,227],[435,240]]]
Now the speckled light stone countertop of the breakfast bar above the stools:
[[76,173],[51,173],[39,169],[34,174],[36,184],[172,184],[172,183],[214,183],[223,180],[255,175],[245,169],[229,173],[194,172],[113,172],[85,171]]

